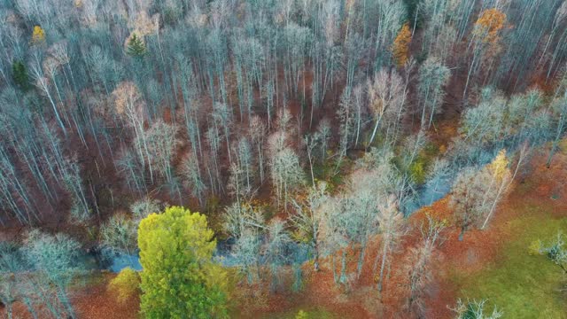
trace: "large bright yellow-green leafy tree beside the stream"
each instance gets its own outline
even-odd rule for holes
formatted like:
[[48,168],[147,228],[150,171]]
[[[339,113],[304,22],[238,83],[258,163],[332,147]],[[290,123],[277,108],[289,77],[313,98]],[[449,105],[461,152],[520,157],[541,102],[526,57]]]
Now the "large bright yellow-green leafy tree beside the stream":
[[147,318],[224,318],[226,274],[212,261],[206,216],[179,206],[140,222],[141,309]]

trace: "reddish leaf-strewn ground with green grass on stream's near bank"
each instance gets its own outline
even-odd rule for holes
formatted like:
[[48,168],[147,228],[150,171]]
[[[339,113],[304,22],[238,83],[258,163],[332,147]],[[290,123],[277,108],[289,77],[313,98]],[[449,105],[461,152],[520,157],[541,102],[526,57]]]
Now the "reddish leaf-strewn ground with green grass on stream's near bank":
[[[528,247],[533,241],[546,242],[558,231],[567,234],[567,140],[557,152],[550,168],[545,167],[548,149],[536,153],[527,172],[517,177],[508,198],[499,206],[486,230],[470,230],[458,241],[459,230],[451,226],[435,255],[432,268],[434,280],[425,296],[425,317],[452,318],[456,300],[488,299],[489,308],[496,305],[504,318],[567,318],[567,295],[562,292],[561,269],[545,256],[532,255]],[[423,207],[409,218],[413,230],[404,240],[404,247],[412,247],[419,240],[419,226],[426,213],[452,222],[448,198],[432,206]],[[377,251],[378,241],[369,245],[369,252]],[[392,258],[392,275],[379,296],[366,267],[361,278],[353,276],[348,287],[338,288],[333,282],[329,262],[322,262],[320,272],[304,266],[304,287],[301,292],[268,293],[264,288],[256,292],[239,292],[233,301],[230,317],[240,318],[294,318],[304,310],[310,318],[408,318],[400,313],[405,299],[400,284],[404,273],[400,270],[408,249]],[[357,253],[349,253],[351,267]],[[369,253],[367,265],[372,265],[376,253]],[[127,319],[138,317],[138,299],[117,305],[105,284],[113,274],[95,276],[74,289],[74,305],[80,318]],[[289,287],[289,283],[283,286]],[[242,286],[239,285],[239,289]],[[256,289],[256,288],[252,288]],[[243,294],[254,293],[245,304],[237,301]],[[27,318],[22,305],[15,305],[15,314]]]

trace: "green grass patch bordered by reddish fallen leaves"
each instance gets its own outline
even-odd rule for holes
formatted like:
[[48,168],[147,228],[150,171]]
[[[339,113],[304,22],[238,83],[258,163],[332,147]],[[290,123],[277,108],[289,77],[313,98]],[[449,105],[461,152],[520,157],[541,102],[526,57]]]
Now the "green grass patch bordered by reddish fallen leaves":
[[488,299],[490,310],[496,305],[504,318],[567,318],[567,295],[560,292],[565,284],[561,268],[545,256],[529,253],[533,241],[548,242],[558,231],[567,234],[567,218],[554,219],[540,211],[511,221],[509,227],[515,236],[501,246],[496,261],[473,276],[454,276],[462,287],[460,297]]

